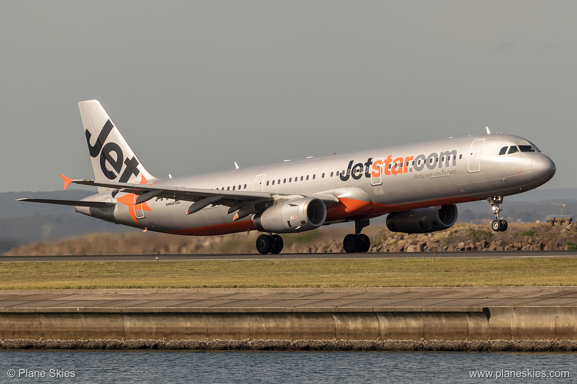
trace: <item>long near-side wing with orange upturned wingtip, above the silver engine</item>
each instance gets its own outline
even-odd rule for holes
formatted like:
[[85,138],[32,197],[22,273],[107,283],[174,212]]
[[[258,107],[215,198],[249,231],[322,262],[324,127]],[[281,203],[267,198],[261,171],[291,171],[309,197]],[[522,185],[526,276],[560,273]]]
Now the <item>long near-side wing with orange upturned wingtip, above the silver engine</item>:
[[[141,204],[152,198],[168,198],[182,201],[191,201],[194,204],[190,206],[186,214],[198,212],[198,210],[203,209],[205,206],[211,204],[229,206],[230,209],[228,213],[241,209],[246,213],[256,213],[266,209],[276,199],[291,199],[291,197],[294,196],[254,191],[225,191],[219,189],[99,182],[95,180],[72,180],[66,178],[66,176],[61,176],[65,180],[65,189],[70,185],[70,183],[118,189],[121,192],[138,195],[134,201],[134,204]],[[299,195],[299,197],[302,196],[317,197],[323,200],[327,206],[331,206],[335,202],[338,202],[338,199],[334,195]]]

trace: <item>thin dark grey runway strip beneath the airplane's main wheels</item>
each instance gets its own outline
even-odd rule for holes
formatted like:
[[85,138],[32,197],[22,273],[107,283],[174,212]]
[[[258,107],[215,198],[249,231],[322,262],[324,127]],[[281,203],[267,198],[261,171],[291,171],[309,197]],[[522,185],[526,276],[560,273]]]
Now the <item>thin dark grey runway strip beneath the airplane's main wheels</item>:
[[85,256],[0,256],[0,262],[22,261],[201,261],[201,260],[330,260],[330,259],[507,259],[577,257],[577,251],[459,251],[386,253],[286,253],[193,254],[193,255],[85,255]]

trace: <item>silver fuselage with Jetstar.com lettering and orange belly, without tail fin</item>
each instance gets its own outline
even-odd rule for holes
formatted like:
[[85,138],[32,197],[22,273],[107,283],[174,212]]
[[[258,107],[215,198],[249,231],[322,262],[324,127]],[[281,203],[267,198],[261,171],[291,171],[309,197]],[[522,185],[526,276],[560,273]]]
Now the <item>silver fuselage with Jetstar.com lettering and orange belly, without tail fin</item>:
[[[543,185],[555,172],[541,152],[499,155],[503,147],[532,145],[507,134],[482,134],[283,161],[155,180],[163,186],[264,191],[271,194],[332,194],[325,224],[370,219],[389,212],[521,193]],[[233,221],[223,205],[186,215],[190,203],[153,198],[126,204],[126,193],[107,190],[85,200],[119,202],[112,208],[76,207],[114,223],[183,235],[219,235],[256,229],[252,216]]]

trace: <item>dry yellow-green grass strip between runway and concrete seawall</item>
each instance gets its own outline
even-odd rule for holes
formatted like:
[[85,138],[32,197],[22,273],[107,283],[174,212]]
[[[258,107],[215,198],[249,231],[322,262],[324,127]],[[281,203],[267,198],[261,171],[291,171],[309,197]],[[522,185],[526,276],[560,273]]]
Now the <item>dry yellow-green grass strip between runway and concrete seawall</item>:
[[577,285],[574,258],[5,262],[0,289]]

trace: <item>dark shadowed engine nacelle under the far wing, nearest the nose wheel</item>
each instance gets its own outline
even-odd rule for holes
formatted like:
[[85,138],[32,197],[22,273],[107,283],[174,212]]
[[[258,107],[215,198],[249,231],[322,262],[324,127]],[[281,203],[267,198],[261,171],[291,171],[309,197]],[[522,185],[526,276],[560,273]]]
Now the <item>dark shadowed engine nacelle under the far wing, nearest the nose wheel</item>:
[[457,206],[441,205],[389,213],[387,228],[392,232],[426,234],[451,228],[457,221]]

